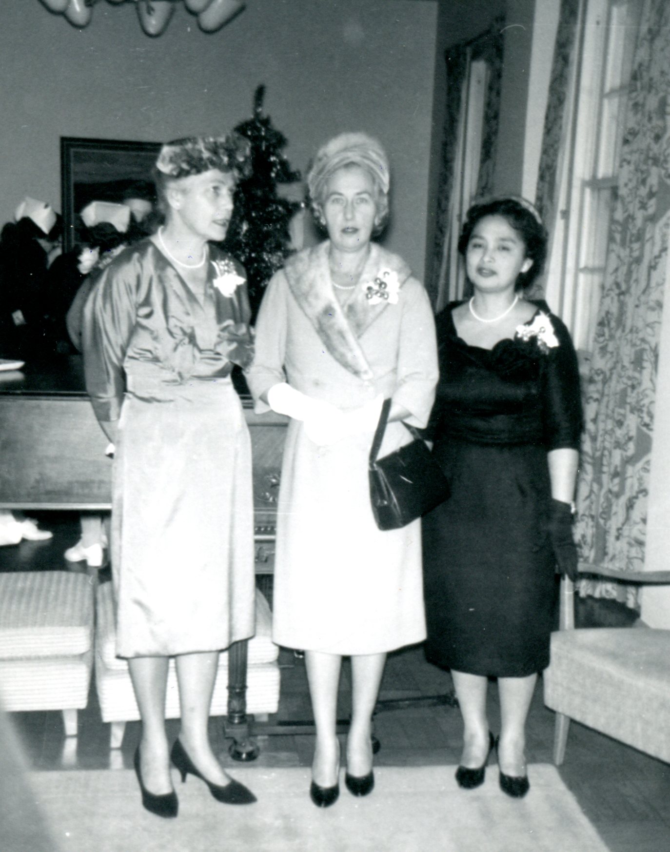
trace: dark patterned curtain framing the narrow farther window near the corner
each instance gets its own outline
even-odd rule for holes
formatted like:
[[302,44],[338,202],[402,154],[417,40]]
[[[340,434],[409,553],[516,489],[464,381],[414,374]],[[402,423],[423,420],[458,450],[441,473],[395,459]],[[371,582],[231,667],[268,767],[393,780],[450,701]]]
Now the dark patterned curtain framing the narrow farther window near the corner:
[[[463,95],[469,78],[470,64],[486,60],[489,69],[486,106],[484,107],[484,132],[480,156],[477,195],[491,192],[495,169],[496,142],[500,113],[500,81],[502,78],[505,18],[496,18],[490,28],[480,36],[448,48],[447,62],[447,112],[442,133],[442,172],[437,193],[436,236],[432,262],[432,279],[427,285],[434,303],[441,301],[440,294],[448,288],[445,252],[449,250],[449,227],[453,218],[453,204],[458,193],[459,137],[463,133]],[[465,211],[463,211],[465,212]]]

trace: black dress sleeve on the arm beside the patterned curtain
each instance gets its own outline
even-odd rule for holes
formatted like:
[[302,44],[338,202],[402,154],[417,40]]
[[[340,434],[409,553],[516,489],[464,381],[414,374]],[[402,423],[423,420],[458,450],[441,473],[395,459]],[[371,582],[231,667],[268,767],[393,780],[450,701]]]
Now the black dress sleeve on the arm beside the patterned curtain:
[[548,450],[578,450],[583,425],[580,371],[575,347],[563,322],[551,314],[558,345],[549,349],[542,370],[542,415]]

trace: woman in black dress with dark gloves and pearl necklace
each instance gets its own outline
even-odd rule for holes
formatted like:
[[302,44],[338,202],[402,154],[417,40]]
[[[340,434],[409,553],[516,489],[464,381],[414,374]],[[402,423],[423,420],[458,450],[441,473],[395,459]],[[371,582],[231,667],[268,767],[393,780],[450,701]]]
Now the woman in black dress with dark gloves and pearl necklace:
[[549,663],[555,569],[575,576],[577,567],[579,372],[561,320],[523,298],[546,258],[534,207],[511,198],[474,205],[459,251],[474,295],[437,318],[430,434],[452,494],[424,519],[426,653],[452,671],[462,787],[484,779],[494,746],[487,682],[498,678],[500,786],[520,797],[528,706]]

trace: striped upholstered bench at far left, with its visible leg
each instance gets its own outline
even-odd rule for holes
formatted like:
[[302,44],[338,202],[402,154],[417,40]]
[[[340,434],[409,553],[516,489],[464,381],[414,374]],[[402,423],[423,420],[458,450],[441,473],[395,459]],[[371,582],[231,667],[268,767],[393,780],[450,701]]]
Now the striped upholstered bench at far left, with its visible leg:
[[0,700],[7,711],[60,710],[67,736],[89,697],[93,585],[83,573],[0,573]]

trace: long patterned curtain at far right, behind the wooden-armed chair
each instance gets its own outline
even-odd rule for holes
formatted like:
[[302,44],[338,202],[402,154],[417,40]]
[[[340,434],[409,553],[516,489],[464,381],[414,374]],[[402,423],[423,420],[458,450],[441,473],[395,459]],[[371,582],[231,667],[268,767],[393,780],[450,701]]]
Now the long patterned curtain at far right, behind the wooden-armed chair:
[[[646,0],[585,389],[577,499],[581,558],[622,574],[644,570],[669,236],[670,3]],[[581,580],[580,593],[637,606],[637,594],[628,584]]]

